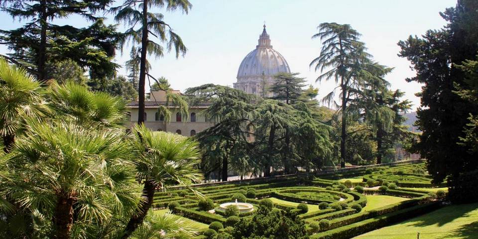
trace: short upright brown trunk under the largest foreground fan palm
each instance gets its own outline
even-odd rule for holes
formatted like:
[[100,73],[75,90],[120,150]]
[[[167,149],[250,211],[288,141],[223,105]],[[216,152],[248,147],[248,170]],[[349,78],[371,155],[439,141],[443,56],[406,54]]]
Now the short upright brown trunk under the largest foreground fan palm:
[[69,239],[73,227],[73,204],[76,199],[70,195],[58,195],[53,223],[55,224],[56,239]]

